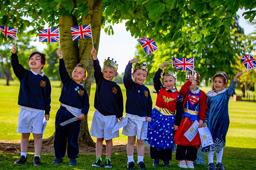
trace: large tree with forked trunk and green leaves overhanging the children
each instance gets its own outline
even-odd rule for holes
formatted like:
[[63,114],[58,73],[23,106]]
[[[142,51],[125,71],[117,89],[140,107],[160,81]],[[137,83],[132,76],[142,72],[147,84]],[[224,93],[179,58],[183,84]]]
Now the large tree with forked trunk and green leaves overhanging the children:
[[[203,43],[213,43],[218,36],[234,23],[238,8],[253,9],[255,0],[1,0],[1,25],[19,28],[23,32],[27,26],[37,30],[60,27],[61,48],[69,73],[78,63],[89,69],[84,83],[90,95],[93,72],[91,59],[91,39],[72,41],[70,27],[91,23],[94,47],[98,50],[100,30],[105,23],[119,23],[127,19],[127,30],[136,37],[149,36],[159,43],[185,42],[184,28],[194,30],[197,37],[195,50],[201,53]],[[256,16],[255,10],[245,12],[250,21]],[[24,17],[26,16],[26,17]],[[196,27],[195,25],[201,25]],[[111,32],[111,26],[106,29]],[[200,41],[201,40],[201,41]],[[182,52],[185,44],[179,47]],[[80,142],[94,145],[87,125],[87,117],[82,121]]]

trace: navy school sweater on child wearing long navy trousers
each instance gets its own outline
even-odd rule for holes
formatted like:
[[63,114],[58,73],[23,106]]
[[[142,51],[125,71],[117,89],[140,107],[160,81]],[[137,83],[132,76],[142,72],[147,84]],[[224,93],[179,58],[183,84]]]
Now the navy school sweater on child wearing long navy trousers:
[[81,111],[84,116],[87,115],[90,107],[87,91],[82,85],[77,84],[70,78],[64,59],[59,59],[59,62],[59,72],[61,82],[63,83],[59,101],[63,104],[82,109]]

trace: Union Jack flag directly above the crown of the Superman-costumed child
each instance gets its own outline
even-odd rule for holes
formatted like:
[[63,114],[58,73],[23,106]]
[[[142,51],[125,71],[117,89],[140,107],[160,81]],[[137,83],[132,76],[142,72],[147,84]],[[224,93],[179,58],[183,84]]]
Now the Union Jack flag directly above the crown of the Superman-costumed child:
[[178,70],[183,71],[193,71],[194,69],[194,58],[187,59],[187,58],[174,58],[173,59],[173,66]]

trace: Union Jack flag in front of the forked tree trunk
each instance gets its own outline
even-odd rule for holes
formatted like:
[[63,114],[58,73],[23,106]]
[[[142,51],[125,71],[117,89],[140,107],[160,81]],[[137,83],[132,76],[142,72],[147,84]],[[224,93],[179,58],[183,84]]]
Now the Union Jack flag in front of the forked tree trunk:
[[91,24],[71,27],[72,40],[91,38]]

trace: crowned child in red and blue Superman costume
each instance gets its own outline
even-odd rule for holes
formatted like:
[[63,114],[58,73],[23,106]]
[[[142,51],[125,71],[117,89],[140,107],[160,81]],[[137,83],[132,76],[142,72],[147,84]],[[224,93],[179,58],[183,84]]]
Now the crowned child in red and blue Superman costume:
[[[191,75],[186,73],[186,83],[181,87],[180,93],[184,96],[183,118],[179,129],[175,133],[174,141],[177,144],[176,160],[180,168],[194,169],[193,161],[196,160],[197,150],[201,145],[199,133],[191,142],[184,136],[184,133],[191,127],[194,121],[199,122],[198,128],[202,127],[207,109],[206,94],[200,90],[200,75],[197,71]],[[186,161],[187,160],[187,164]]]

